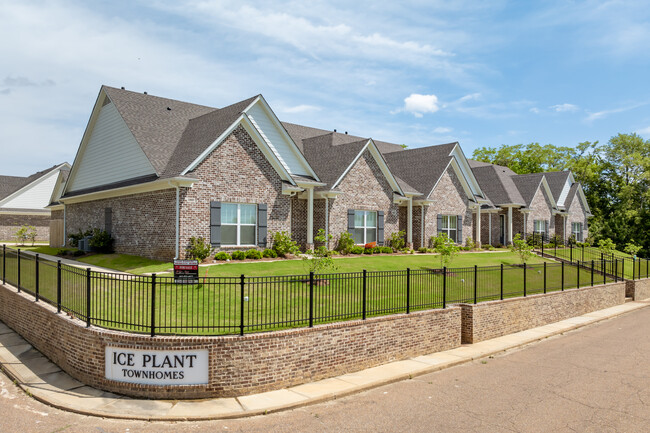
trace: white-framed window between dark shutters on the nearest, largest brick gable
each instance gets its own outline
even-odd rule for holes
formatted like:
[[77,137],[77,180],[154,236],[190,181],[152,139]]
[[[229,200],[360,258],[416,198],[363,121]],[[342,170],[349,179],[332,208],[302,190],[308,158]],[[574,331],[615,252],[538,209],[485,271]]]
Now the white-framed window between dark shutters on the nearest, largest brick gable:
[[221,245],[255,246],[257,205],[222,203]]

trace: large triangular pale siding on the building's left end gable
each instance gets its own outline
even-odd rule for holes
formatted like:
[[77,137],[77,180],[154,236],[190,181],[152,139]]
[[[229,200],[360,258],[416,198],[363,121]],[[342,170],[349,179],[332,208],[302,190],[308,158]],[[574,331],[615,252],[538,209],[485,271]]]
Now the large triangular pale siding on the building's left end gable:
[[67,191],[77,191],[155,173],[115,105],[102,107],[90,139],[75,161]]

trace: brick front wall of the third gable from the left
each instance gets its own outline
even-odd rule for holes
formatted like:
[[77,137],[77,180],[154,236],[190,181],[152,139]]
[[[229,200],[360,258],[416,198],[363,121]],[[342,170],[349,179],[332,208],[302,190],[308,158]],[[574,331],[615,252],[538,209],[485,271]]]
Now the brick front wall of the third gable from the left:
[[[424,208],[425,243],[429,242],[431,236],[438,235],[438,214],[461,215],[463,217],[463,233],[462,239],[458,239],[459,244],[464,245],[468,237],[474,238],[473,217],[469,208],[469,200],[458,176],[451,167],[440,177],[438,185],[428,199],[432,200],[433,204]],[[413,240],[415,241],[415,235]]]

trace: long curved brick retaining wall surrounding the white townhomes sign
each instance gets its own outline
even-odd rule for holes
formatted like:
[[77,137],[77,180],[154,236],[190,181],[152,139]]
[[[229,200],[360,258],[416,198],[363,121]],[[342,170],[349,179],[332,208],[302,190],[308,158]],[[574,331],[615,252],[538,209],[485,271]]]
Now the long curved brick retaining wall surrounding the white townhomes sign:
[[[460,345],[461,309],[429,310],[314,328],[222,337],[149,337],[86,328],[13,287],[0,285],[0,319],[75,379],[133,397],[208,398],[270,391],[449,350]],[[150,386],[104,378],[106,346],[207,349],[207,385]]]

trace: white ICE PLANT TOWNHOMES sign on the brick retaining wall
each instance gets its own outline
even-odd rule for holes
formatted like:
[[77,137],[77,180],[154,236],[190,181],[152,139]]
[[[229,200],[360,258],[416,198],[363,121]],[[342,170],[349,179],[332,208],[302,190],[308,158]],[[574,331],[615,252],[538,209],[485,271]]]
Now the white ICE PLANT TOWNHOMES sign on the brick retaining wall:
[[160,386],[207,384],[208,351],[106,346],[106,379]]

